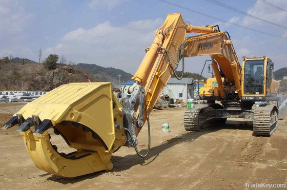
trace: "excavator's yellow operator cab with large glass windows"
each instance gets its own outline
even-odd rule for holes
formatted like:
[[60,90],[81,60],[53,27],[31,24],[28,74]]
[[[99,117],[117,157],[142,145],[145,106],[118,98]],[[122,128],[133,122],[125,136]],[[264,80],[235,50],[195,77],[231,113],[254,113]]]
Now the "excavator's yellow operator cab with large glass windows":
[[242,61],[242,100],[277,101],[279,82],[273,80],[274,64],[266,56]]

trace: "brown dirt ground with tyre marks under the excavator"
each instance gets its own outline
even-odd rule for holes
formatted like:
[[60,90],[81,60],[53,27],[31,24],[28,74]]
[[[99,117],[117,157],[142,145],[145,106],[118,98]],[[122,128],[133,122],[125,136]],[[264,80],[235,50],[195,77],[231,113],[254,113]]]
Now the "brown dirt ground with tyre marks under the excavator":
[[[1,103],[3,125],[23,103]],[[0,130],[0,188],[50,189],[244,189],[245,183],[287,184],[286,119],[269,137],[252,136],[252,124],[228,120],[204,132],[183,128],[185,109],[153,111],[150,115],[152,149],[145,159],[133,148],[121,147],[114,154],[111,172],[63,178],[39,170],[30,159],[16,127]],[[170,123],[170,133],[161,123]],[[64,143],[59,141],[62,149]],[[147,126],[139,134],[139,147],[148,144]],[[282,170],[284,169],[284,170]]]

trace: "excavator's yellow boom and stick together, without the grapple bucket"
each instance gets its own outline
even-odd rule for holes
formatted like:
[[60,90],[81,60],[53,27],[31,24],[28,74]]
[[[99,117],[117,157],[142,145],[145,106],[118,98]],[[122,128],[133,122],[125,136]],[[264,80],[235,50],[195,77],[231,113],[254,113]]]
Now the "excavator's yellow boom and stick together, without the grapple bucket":
[[[186,37],[187,33],[201,33],[201,35]],[[233,92],[240,98],[241,68],[229,34],[220,32],[219,27],[217,30],[214,26],[186,25],[179,13],[169,14],[165,24],[156,31],[152,46],[147,49],[146,56],[132,77],[135,81],[134,86],[127,87],[129,88],[127,92],[132,92],[138,85],[144,87],[146,113],[149,114],[169,78],[179,66],[180,60],[203,55],[212,58],[221,99],[226,96],[224,91]],[[184,64],[184,60],[182,62]],[[218,67],[226,78],[224,84]],[[125,89],[123,92],[125,93]],[[144,122],[147,114],[144,114]],[[141,127],[135,129],[134,137],[140,129]]]

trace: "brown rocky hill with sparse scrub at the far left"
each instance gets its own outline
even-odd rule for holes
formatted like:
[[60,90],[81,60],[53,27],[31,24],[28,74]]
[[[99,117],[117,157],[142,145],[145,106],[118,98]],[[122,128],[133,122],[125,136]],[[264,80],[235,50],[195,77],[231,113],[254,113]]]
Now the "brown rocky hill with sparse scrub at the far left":
[[0,63],[0,91],[50,91],[64,83],[87,81],[83,71],[58,65],[48,71],[42,64]]

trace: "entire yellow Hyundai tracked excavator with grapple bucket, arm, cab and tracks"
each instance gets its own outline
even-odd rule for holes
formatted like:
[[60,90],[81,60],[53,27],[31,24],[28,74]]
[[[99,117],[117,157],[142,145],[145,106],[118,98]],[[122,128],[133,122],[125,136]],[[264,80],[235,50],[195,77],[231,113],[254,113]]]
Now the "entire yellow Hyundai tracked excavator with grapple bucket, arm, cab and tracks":
[[[199,35],[186,37],[187,33]],[[147,156],[149,114],[156,100],[180,61],[184,66],[185,57],[200,55],[211,56],[215,77],[200,90],[207,103],[185,112],[186,130],[200,131],[229,117],[241,117],[253,120],[255,134],[271,135],[277,127],[279,86],[272,79],[272,60],[265,56],[243,58],[241,67],[227,32],[218,26],[189,25],[180,13],[169,14],[156,30],[132,77],[134,85],[122,88],[121,95],[113,93],[110,82],[62,85],[27,103],[3,129],[18,124],[30,157],[48,173],[75,177],[110,171],[111,156],[120,146],[134,147],[140,157]],[[253,107],[255,101],[264,103]],[[149,145],[142,155],[137,150],[137,135],[146,121]],[[76,151],[59,153],[50,141],[51,129]]]

